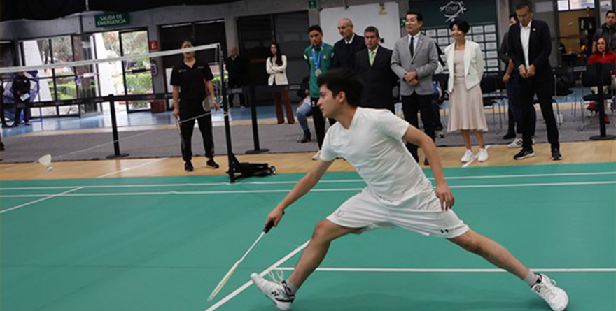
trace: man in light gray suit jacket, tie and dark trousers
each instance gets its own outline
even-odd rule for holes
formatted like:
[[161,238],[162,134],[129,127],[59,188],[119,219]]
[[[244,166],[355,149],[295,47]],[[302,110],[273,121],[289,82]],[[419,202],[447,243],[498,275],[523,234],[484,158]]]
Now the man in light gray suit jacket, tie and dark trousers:
[[[402,111],[405,120],[415,127],[419,126],[417,113],[421,111],[423,131],[434,140],[434,115],[432,111],[432,75],[438,66],[438,53],[432,38],[419,31],[423,26],[423,15],[407,12],[406,28],[408,36],[395,43],[391,56],[391,70],[400,78]],[[419,162],[417,146],[407,143],[409,152]],[[424,161],[428,164],[428,161]]]

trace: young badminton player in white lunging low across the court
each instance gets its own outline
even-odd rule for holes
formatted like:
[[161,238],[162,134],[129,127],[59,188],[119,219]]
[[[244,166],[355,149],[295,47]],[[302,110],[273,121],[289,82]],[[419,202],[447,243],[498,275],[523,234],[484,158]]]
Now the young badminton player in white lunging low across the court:
[[[267,216],[277,226],[283,210],[316,185],[336,157],[344,157],[365,180],[367,187],[316,224],[312,239],[283,282],[251,279],[280,310],[289,310],[295,293],[325,258],[332,240],[365,229],[399,226],[425,236],[447,238],[484,257],[528,283],[552,310],[564,310],[568,296],[555,282],[533,273],[505,247],[472,231],[456,213],[436,147],[430,137],[389,110],[358,108],[362,85],[355,73],[337,69],[318,78],[318,107],[334,118],[321,149],[321,159]],[[405,147],[405,140],[421,147],[432,168],[436,190]]]

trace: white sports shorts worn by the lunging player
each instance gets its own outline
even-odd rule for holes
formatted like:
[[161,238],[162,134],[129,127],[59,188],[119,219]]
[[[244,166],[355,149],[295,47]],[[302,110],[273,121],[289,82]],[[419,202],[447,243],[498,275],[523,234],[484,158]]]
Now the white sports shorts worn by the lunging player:
[[412,198],[388,206],[368,189],[346,200],[327,219],[347,228],[392,229],[398,226],[423,236],[432,234],[442,238],[456,238],[469,229],[453,210],[441,210],[435,194],[419,204]]

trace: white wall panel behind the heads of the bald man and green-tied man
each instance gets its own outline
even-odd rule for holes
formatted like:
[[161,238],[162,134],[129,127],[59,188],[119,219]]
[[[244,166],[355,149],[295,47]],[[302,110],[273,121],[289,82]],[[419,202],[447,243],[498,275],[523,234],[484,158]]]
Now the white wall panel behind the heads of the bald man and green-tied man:
[[[381,45],[393,49],[395,41],[400,38],[400,12],[396,2],[386,2],[386,13],[382,12],[379,3],[349,6],[349,8],[324,8],[319,17],[323,28],[323,42],[333,45],[342,37],[338,33],[338,21],[344,17],[353,21],[353,31],[363,36],[363,31],[368,26],[379,29],[384,43]],[[384,14],[383,14],[384,13]]]

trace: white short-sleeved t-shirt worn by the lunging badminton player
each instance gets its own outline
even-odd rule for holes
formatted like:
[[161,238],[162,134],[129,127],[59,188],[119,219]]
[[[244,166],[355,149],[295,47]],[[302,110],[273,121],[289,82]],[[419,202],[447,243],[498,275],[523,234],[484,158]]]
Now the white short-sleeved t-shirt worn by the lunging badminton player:
[[344,157],[381,203],[412,200],[421,205],[434,190],[402,141],[408,128],[408,122],[389,110],[357,108],[349,129],[339,122],[328,129],[321,159]]

